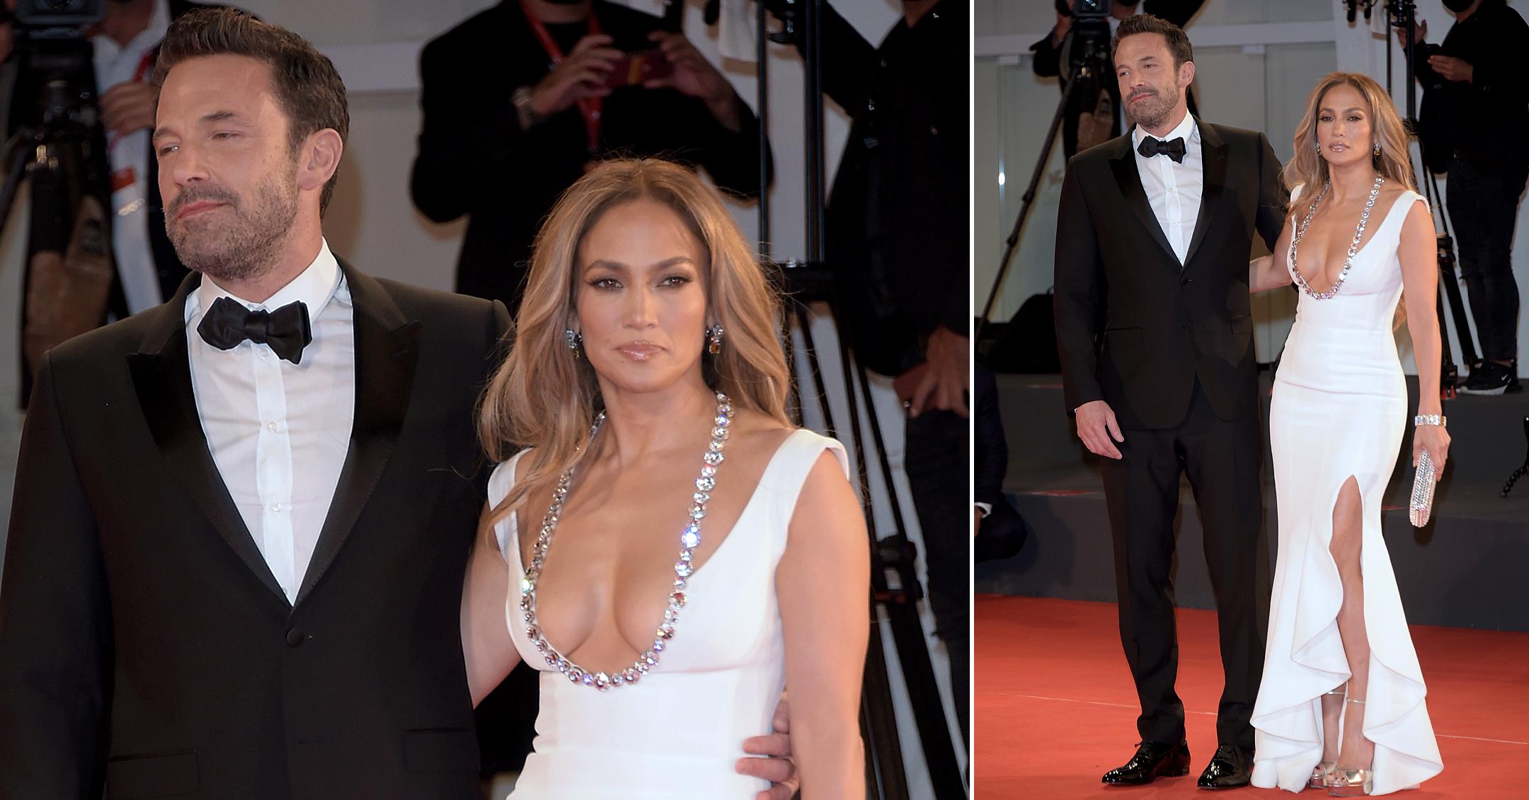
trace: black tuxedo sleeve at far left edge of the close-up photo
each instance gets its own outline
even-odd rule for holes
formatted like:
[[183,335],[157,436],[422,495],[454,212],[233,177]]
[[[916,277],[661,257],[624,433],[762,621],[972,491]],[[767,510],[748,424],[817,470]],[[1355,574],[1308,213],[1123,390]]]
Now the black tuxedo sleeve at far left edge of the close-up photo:
[[[21,435],[0,582],[0,797],[99,797],[106,568],[49,359]],[[174,635],[174,632],[167,632]]]

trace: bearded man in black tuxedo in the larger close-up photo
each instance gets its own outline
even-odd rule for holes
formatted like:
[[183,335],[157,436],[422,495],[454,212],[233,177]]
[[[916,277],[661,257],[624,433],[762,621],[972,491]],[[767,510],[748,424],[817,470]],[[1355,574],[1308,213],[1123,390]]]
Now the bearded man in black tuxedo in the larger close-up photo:
[[349,111],[307,41],[196,11],[154,85],[196,273],[40,371],[0,582],[0,797],[477,800],[471,409],[509,316],[329,252]]

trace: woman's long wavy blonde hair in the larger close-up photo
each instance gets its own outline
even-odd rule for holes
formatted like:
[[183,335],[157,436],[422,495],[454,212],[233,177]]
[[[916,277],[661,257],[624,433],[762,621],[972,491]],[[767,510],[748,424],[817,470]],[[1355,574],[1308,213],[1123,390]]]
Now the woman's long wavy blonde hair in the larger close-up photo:
[[790,373],[781,351],[780,296],[755,249],[745,241],[717,192],[690,169],[657,159],[601,163],[570,186],[537,234],[515,340],[479,408],[479,438],[492,461],[523,446],[515,489],[494,507],[489,525],[524,504],[534,487],[569,470],[604,406],[587,359],[575,359],[564,331],[576,316],[578,252],[584,235],[612,208],[653,200],[674,211],[702,246],[702,285],[711,324],[722,325],[722,354],[702,356],[706,383],[739,408],[781,424]]

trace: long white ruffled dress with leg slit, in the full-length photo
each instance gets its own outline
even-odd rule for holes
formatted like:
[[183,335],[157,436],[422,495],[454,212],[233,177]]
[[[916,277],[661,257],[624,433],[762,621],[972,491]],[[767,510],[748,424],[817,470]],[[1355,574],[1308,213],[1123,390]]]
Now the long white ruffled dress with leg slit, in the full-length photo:
[[[1391,325],[1402,295],[1402,221],[1417,202],[1427,203],[1407,191],[1385,211],[1336,296],[1320,301],[1301,292],[1275,374],[1269,446],[1280,548],[1252,711],[1254,786],[1306,786],[1321,760],[1321,695],[1349,679],[1336,621],[1342,585],[1329,551],[1333,505],[1349,476],[1364,505],[1359,566],[1370,681],[1362,699],[1364,736],[1375,742],[1375,794],[1416,786],[1443,769],[1381,537],[1381,496],[1410,418]],[[1295,224],[1304,212],[1301,206]]]

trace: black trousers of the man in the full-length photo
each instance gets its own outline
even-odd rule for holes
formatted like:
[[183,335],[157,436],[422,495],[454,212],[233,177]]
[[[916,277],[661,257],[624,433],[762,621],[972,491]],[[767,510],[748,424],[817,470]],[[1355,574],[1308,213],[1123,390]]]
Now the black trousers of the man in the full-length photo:
[[[1183,702],[1174,692],[1179,640],[1173,603],[1173,518],[1179,476],[1187,473],[1205,524],[1205,560],[1216,592],[1222,669],[1216,739],[1252,748],[1254,698],[1263,675],[1269,559],[1261,533],[1258,417],[1220,420],[1194,386],[1176,427],[1122,431],[1121,461],[1104,461],[1104,495],[1115,540],[1115,586],[1121,644],[1136,681],[1142,740],[1185,737]],[[1260,611],[1261,609],[1261,611]]]

